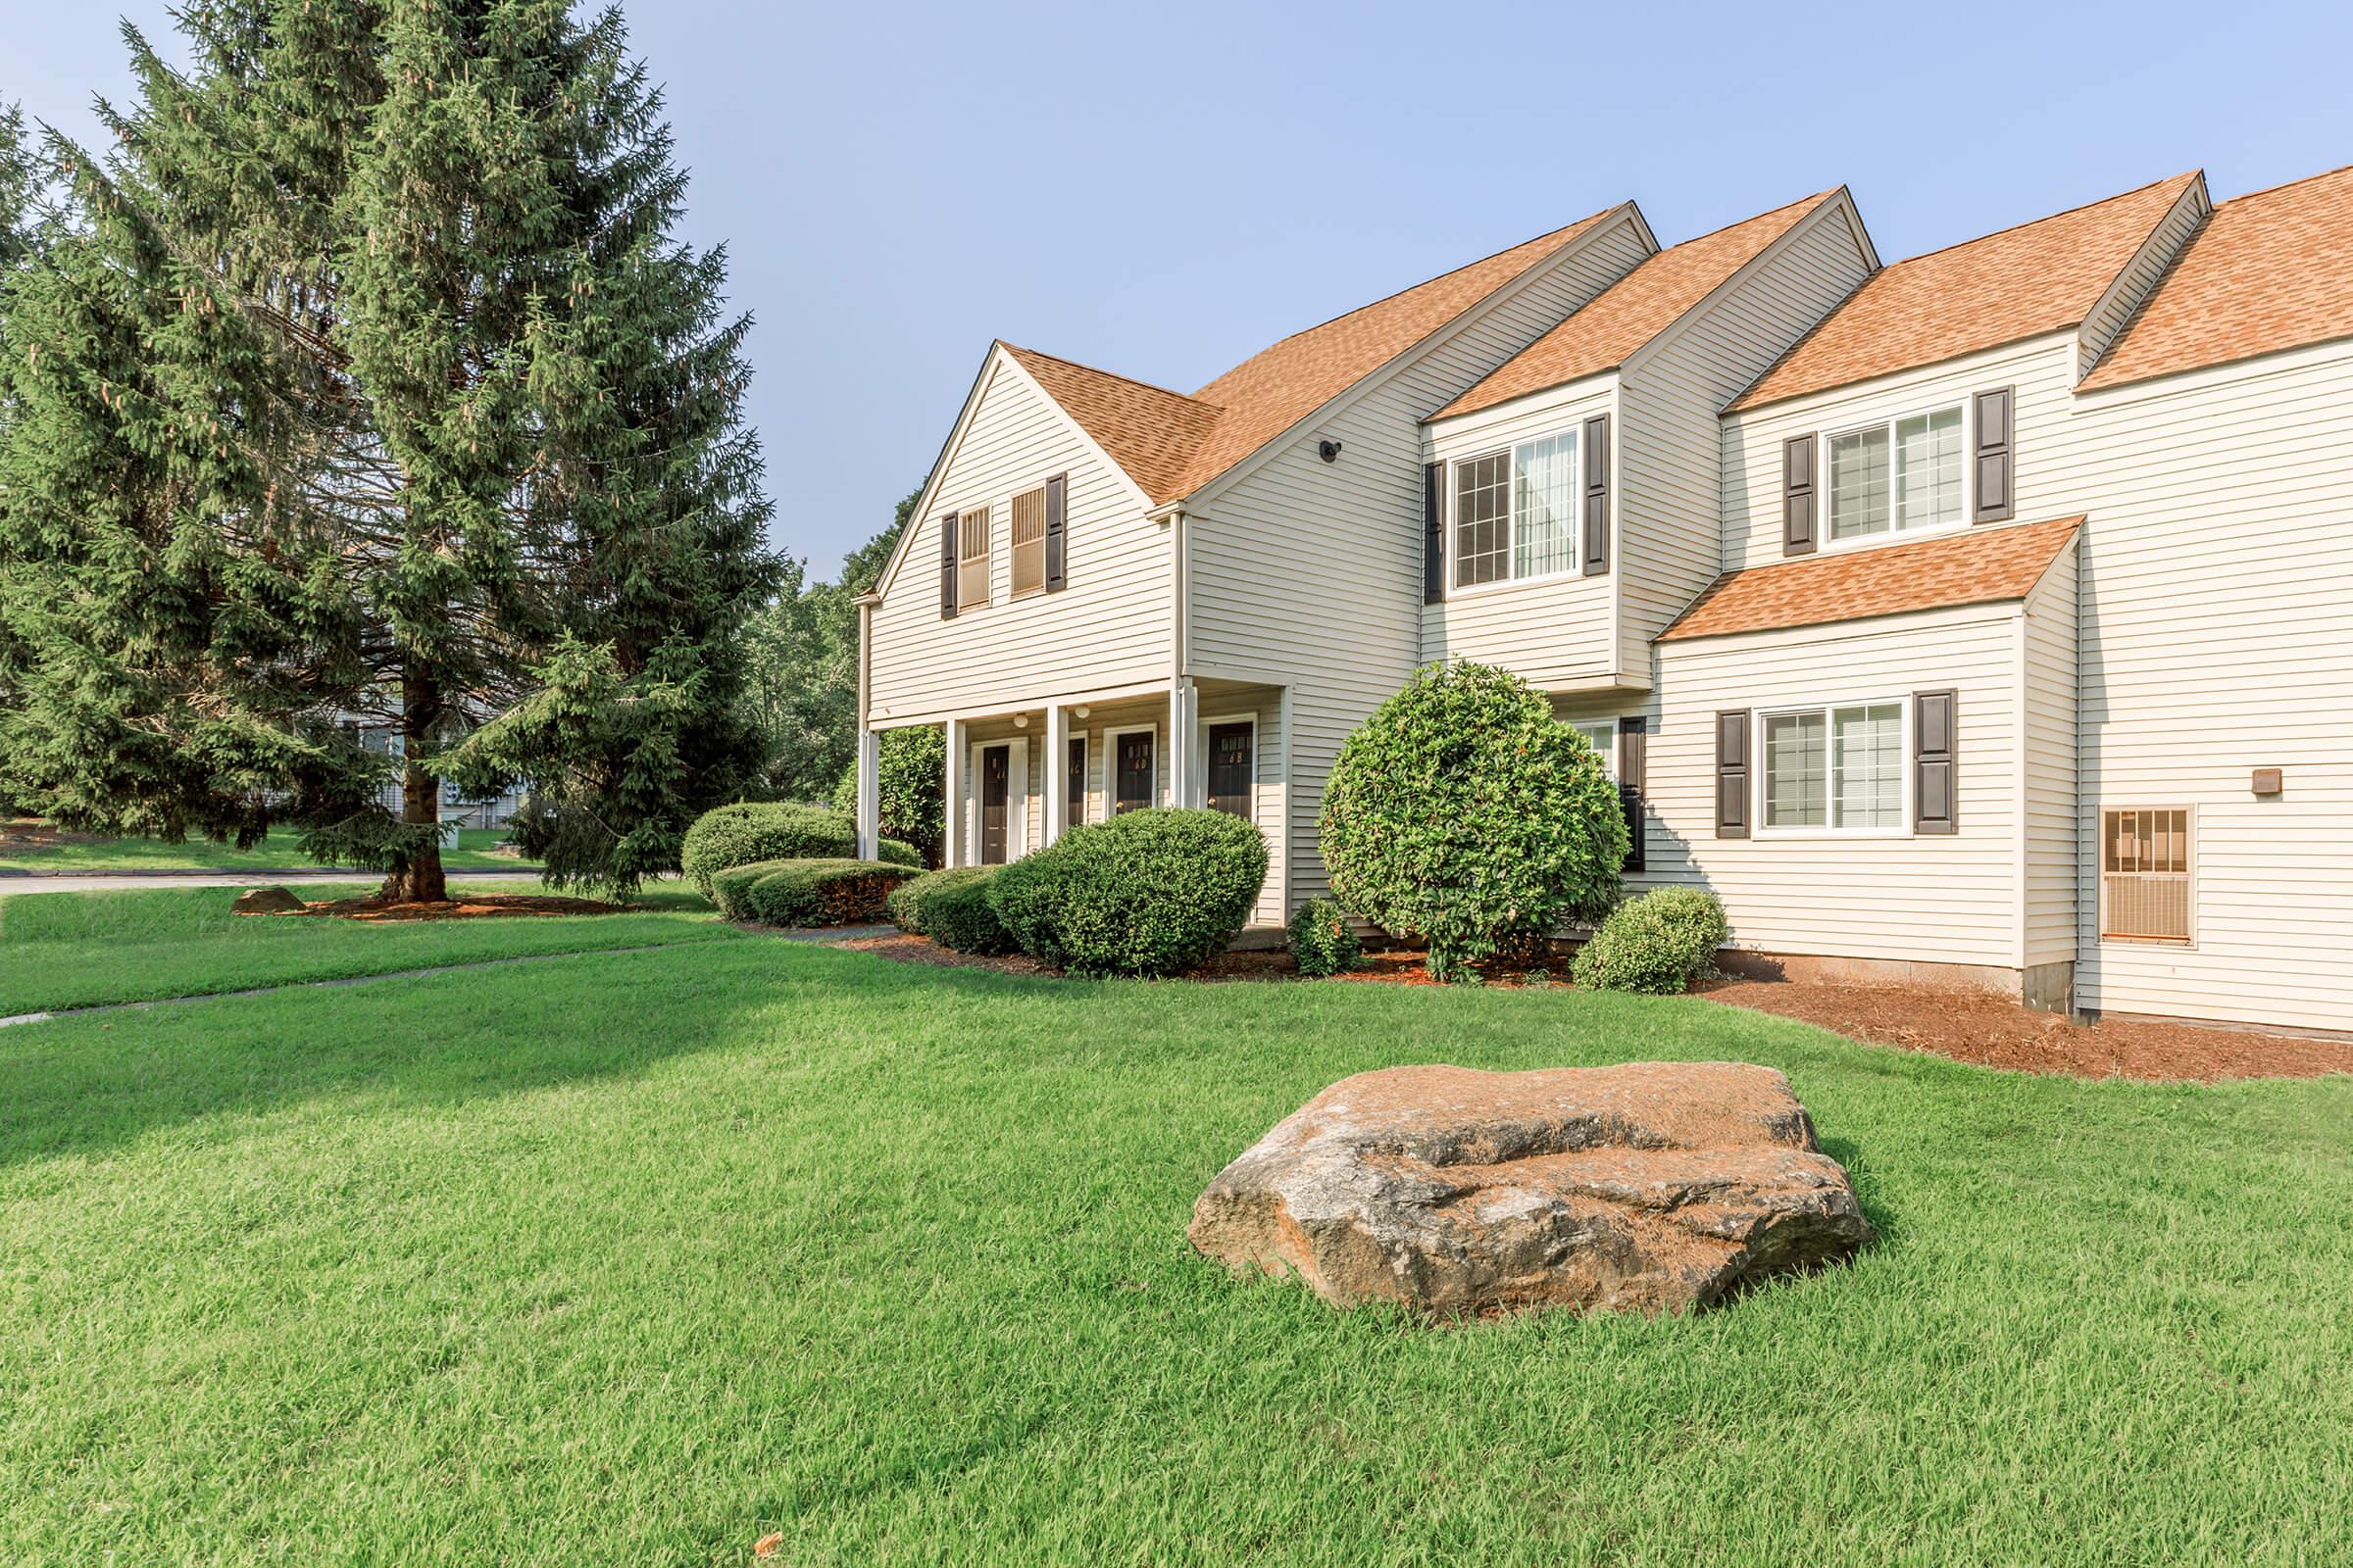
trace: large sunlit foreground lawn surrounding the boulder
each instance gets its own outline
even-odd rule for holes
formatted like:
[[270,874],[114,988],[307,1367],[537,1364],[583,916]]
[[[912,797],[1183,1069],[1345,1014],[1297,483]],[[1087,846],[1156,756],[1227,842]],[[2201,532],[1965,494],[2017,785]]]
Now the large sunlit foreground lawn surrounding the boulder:
[[[1852,1267],[1419,1328],[1186,1251],[1365,1067],[1746,1058]],[[741,938],[0,1030],[0,1561],[2353,1559],[2353,1079]]]

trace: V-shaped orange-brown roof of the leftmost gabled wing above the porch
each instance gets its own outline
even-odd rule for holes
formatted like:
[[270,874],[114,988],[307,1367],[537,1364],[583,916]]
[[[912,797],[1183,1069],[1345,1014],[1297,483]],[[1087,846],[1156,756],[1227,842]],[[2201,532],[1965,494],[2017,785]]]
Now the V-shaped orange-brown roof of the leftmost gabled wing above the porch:
[[1191,496],[1400,353],[1626,207],[1537,235],[1322,327],[1294,331],[1191,397],[1005,346],[1153,505]]

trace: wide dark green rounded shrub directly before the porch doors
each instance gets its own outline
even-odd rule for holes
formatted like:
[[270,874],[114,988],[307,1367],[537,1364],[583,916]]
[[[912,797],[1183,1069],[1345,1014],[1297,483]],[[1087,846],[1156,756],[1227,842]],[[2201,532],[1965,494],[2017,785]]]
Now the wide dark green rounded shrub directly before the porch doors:
[[1040,964],[1078,976],[1174,976],[1249,922],[1266,839],[1226,811],[1155,806],[1073,827],[1002,867],[988,905]]

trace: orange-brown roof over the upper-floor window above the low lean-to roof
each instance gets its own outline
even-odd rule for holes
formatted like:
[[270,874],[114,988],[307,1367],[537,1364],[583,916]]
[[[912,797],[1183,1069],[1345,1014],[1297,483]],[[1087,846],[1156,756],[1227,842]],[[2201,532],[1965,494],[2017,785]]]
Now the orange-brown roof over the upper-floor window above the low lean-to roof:
[[1880,268],[1732,400],[1753,409],[2080,327],[2198,172]]

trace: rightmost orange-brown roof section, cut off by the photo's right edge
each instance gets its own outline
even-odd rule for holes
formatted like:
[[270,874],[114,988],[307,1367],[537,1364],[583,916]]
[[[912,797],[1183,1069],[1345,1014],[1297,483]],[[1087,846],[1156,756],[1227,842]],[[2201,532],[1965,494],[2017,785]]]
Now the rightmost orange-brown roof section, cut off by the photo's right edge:
[[2082,388],[2353,339],[2353,167],[2214,207]]

